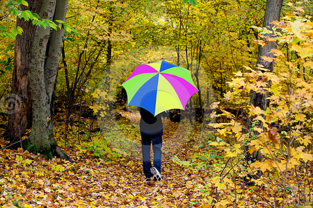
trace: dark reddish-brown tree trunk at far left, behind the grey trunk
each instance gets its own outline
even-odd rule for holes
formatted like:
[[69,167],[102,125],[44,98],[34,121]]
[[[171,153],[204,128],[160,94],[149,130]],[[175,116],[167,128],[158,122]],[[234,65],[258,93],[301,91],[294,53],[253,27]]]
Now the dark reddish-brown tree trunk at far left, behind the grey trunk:
[[[30,10],[39,13],[42,0],[28,0],[29,7],[21,5],[19,10]],[[31,111],[31,91],[29,88],[29,63],[31,62],[31,49],[36,27],[31,21],[24,21],[17,17],[16,26],[23,29],[23,35],[17,35],[15,39],[15,59],[12,77],[11,94],[20,99],[20,105],[14,112],[8,115],[8,128],[6,137],[13,144],[24,135],[27,129],[31,128],[33,114]],[[13,96],[12,95],[12,96]]]

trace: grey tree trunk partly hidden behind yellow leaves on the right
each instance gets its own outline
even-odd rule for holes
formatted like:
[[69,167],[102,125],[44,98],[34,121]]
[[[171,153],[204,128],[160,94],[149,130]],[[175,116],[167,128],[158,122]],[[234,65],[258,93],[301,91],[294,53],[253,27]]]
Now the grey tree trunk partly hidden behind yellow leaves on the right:
[[[277,20],[280,21],[280,11],[282,10],[282,2],[283,0],[267,0],[266,1],[266,9],[263,21],[263,27],[273,31],[273,24],[270,24],[272,21]],[[271,37],[271,34],[268,34]],[[273,72],[275,62],[267,62],[263,61],[262,57],[273,57],[273,53],[270,53],[272,49],[276,49],[276,44],[274,42],[269,42],[265,46],[259,46],[259,54],[257,56],[257,67],[262,65],[264,69],[268,69]],[[260,107],[262,110],[266,110],[266,98],[268,94],[263,94],[260,92],[252,92],[250,96],[250,103],[255,107]],[[256,123],[257,126],[262,127],[262,123]],[[248,119],[247,122],[248,130],[252,127],[252,121]],[[255,132],[257,134],[257,132]],[[246,152],[246,160],[247,162],[255,162],[256,160],[261,160],[261,153],[259,151],[252,153],[248,153],[248,146],[244,147]]]

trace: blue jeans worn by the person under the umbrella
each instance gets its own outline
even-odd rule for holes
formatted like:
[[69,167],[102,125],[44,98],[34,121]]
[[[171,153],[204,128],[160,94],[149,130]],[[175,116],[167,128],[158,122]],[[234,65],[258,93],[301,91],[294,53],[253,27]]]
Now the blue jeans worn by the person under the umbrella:
[[150,161],[151,142],[153,150],[153,166],[157,168],[159,173],[161,173],[162,136],[152,137],[141,135],[141,148],[143,151],[143,173],[145,173],[145,177],[147,178],[153,176],[153,174],[150,171],[150,168],[152,168]]

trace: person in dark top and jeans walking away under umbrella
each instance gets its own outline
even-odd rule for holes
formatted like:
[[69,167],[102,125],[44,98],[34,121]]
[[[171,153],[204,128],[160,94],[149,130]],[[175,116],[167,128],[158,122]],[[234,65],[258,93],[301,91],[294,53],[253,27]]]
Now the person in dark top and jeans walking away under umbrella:
[[[161,181],[161,157],[163,123],[161,114],[153,116],[152,113],[142,107],[138,107],[141,114],[141,148],[143,152],[143,173],[146,181]],[[153,150],[153,166],[150,161],[150,148]]]

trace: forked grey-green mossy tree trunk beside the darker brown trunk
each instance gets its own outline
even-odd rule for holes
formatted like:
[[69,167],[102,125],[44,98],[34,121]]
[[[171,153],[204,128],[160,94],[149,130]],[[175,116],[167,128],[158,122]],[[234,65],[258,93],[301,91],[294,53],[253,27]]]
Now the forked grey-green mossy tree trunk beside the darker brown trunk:
[[[55,10],[58,8],[57,10]],[[44,0],[40,17],[65,21],[67,0]],[[31,144],[29,150],[40,153],[44,157],[52,156],[69,159],[58,147],[51,121],[51,102],[58,73],[58,63],[61,58],[64,28],[58,28],[51,33],[50,27],[37,27],[31,51],[30,78],[31,98],[33,100],[33,126],[31,130]],[[45,59],[47,51],[47,59]]]

